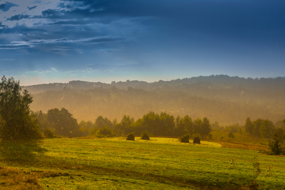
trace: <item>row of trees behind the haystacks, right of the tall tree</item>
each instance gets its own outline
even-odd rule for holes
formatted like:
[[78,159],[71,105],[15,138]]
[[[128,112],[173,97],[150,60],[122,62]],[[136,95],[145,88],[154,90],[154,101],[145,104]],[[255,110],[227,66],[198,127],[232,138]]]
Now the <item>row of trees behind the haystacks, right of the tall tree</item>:
[[54,134],[70,138],[88,135],[126,136],[129,133],[139,136],[145,131],[154,136],[178,137],[190,134],[203,138],[211,132],[210,122],[206,117],[192,120],[188,115],[174,117],[166,112],[157,114],[149,111],[137,121],[129,115],[124,115],[119,123],[117,119],[112,122],[107,117],[98,116],[95,122],[82,120],[79,124],[65,108],[50,109],[47,113],[37,111],[32,114],[36,116],[42,132],[50,130]]

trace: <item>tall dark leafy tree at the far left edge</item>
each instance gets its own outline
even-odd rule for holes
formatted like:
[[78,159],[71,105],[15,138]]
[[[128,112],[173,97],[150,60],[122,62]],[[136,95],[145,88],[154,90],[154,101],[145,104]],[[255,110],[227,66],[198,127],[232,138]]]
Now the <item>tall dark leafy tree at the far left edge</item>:
[[0,83],[0,138],[37,139],[40,138],[40,126],[34,114],[30,114],[29,105],[32,96],[23,90],[20,81],[13,77],[1,78]]

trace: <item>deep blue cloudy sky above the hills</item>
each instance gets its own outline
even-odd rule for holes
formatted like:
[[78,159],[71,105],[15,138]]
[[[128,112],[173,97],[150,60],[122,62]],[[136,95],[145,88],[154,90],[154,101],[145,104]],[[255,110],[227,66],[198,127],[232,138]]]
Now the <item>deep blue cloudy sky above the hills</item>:
[[0,0],[21,85],[285,76],[284,0]]

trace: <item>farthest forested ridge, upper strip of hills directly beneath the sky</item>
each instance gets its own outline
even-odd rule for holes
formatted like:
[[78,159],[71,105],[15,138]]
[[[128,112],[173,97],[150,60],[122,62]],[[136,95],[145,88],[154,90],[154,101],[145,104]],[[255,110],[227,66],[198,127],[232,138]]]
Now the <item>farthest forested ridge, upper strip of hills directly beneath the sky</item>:
[[[86,81],[70,81],[69,83],[49,83],[40,85],[25,86],[27,90],[32,93],[41,93],[48,90],[62,90],[64,87],[76,90],[89,90],[93,88],[111,88],[117,87],[119,89],[127,90],[129,87],[144,90],[163,90],[163,91],[186,91],[191,92],[193,95],[207,96],[207,93],[224,94],[227,96],[239,96],[248,90],[250,93],[256,91],[257,94],[263,91],[268,93],[280,95],[285,92],[285,77],[272,78],[243,78],[243,77],[230,77],[227,75],[211,75],[191,77],[184,79],[176,79],[171,81],[158,81],[147,83],[145,81],[113,81],[111,84],[101,82],[86,82]],[[206,94],[205,94],[206,92]],[[238,93],[237,93],[238,92]]]

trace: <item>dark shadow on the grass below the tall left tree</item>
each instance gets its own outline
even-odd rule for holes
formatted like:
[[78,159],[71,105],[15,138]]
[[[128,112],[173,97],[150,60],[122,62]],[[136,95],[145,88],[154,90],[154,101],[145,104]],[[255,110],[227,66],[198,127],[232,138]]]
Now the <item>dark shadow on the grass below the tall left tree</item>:
[[39,140],[1,141],[0,159],[2,162],[28,164],[35,163],[47,150],[38,144]]

